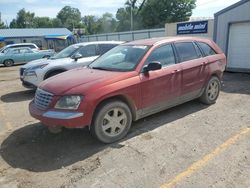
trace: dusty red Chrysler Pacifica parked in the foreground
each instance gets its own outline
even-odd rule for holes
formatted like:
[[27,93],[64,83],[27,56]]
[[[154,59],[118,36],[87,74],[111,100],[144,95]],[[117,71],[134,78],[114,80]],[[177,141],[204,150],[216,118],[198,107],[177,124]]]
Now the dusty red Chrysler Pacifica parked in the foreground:
[[51,131],[89,126],[111,143],[125,137],[132,121],[196,98],[215,103],[225,66],[225,55],[209,39],[128,42],[87,68],[42,82],[29,110]]

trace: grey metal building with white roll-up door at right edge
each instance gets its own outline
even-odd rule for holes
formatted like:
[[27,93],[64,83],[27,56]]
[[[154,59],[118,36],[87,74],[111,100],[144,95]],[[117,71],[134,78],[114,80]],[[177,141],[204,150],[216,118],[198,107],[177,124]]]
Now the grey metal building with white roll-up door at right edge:
[[227,70],[250,72],[250,0],[241,0],[214,16],[214,40],[227,55]]

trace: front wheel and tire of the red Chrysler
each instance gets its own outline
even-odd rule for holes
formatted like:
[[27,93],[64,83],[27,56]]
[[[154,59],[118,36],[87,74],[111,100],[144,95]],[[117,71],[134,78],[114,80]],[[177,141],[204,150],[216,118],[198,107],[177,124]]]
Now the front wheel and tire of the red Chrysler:
[[132,114],[128,105],[112,100],[98,108],[90,131],[99,141],[113,143],[127,135],[131,124]]

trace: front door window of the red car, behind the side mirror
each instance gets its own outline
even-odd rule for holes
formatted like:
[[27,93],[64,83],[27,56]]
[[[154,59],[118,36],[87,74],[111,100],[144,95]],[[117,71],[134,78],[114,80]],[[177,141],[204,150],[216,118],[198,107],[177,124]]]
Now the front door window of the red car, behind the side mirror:
[[155,49],[148,57],[146,65],[152,61],[158,61],[162,66],[175,64],[173,48],[170,44]]

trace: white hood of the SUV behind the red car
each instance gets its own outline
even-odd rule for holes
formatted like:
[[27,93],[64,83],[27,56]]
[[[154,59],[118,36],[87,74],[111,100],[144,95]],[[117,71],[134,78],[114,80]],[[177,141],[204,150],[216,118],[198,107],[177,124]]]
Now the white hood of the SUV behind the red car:
[[31,68],[34,66],[39,66],[39,65],[43,65],[43,64],[47,64],[47,63],[64,63],[64,62],[69,62],[71,61],[71,58],[62,58],[62,59],[46,59],[46,58],[42,58],[42,59],[37,59],[34,61],[30,61],[29,63],[25,64],[22,66],[22,68]]

